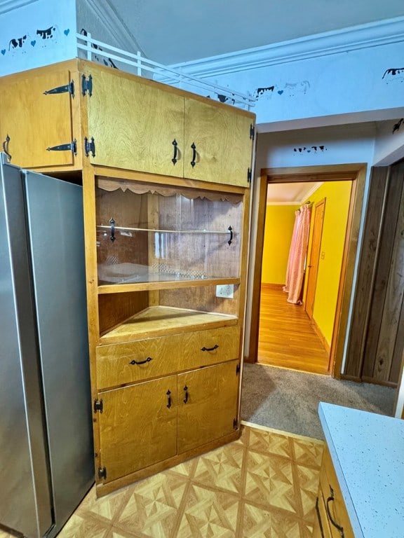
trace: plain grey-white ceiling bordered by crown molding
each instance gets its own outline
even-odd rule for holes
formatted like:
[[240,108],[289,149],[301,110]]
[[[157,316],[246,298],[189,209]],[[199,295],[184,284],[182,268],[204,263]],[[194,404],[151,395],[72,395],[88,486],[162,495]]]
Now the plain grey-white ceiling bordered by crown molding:
[[105,0],[149,59],[170,65],[404,15],[403,0]]

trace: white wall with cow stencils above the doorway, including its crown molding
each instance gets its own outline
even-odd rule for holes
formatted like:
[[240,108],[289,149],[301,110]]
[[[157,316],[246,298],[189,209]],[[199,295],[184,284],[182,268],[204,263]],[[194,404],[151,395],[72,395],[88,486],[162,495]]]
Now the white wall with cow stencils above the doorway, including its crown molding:
[[261,132],[404,116],[404,18],[177,64],[255,97]]

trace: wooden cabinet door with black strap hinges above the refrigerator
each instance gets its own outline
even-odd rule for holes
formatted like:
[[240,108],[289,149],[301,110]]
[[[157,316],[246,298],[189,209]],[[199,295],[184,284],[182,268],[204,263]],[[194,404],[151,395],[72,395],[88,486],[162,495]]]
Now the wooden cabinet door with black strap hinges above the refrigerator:
[[74,164],[72,103],[79,88],[69,71],[0,80],[1,151],[25,168]]

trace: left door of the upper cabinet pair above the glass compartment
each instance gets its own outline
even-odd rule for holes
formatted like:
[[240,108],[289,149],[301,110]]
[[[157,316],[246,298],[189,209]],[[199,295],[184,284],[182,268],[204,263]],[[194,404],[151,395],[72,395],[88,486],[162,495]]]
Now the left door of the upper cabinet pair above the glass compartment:
[[95,71],[88,137],[93,164],[182,177],[184,97],[146,79]]

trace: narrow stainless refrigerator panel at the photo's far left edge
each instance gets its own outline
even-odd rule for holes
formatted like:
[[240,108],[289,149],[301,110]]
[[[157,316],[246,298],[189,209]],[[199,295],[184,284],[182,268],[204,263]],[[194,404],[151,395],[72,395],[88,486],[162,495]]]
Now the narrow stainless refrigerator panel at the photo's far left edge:
[[41,368],[23,175],[0,163],[0,178],[0,523],[31,538],[53,524]]

